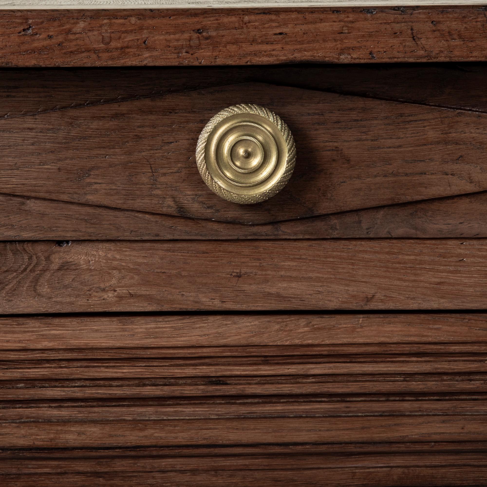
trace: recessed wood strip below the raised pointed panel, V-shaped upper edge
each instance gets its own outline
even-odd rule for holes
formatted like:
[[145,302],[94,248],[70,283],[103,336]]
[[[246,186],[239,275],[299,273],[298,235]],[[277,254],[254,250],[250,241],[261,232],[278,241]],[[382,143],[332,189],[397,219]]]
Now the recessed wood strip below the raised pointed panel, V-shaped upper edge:
[[0,240],[233,240],[487,237],[487,193],[268,225],[195,220],[0,194]]

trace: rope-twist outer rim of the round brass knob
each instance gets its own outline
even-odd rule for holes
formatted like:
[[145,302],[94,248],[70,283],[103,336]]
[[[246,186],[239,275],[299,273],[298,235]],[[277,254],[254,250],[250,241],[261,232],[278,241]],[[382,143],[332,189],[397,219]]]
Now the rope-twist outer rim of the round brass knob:
[[[205,147],[208,136],[213,131],[215,126],[219,124],[222,120],[229,117],[230,115],[235,115],[238,113],[254,113],[256,115],[261,115],[270,122],[272,122],[279,131],[281,131],[284,141],[287,146],[287,160],[284,172],[282,173],[279,180],[269,189],[263,191],[262,193],[255,195],[242,195],[235,194],[228,191],[224,187],[221,187],[210,175],[208,169],[206,168],[205,160]],[[209,187],[214,193],[222,197],[227,201],[233,203],[240,203],[242,205],[251,205],[254,203],[260,203],[262,201],[268,200],[275,194],[277,194],[281,189],[287,184],[291,174],[293,173],[294,166],[296,164],[296,144],[294,138],[289,130],[287,124],[282,120],[282,118],[274,112],[271,112],[267,108],[261,107],[259,105],[251,104],[240,104],[225,108],[221,112],[214,115],[209,122],[206,124],[205,128],[201,132],[198,138],[198,144],[196,145],[196,164],[198,170],[200,171],[203,181],[205,181],[206,186]]]

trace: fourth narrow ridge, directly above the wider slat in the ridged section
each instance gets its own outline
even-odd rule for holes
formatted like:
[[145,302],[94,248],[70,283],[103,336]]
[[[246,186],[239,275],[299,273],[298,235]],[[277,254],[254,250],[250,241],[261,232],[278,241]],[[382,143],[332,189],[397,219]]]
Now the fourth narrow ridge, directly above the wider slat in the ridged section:
[[[189,402],[189,401],[188,401]],[[250,418],[338,418],[352,416],[452,416],[487,414],[487,401],[286,401],[265,402],[245,401],[223,402],[221,404],[200,403],[186,404],[182,401],[175,405],[124,405],[123,407],[104,405],[94,406],[86,403],[79,407],[56,407],[55,404],[42,404],[39,407],[24,405],[8,408],[3,405],[0,411],[2,425],[24,423],[96,423],[120,421],[163,421],[190,419],[250,419]],[[487,455],[485,457],[487,465]]]

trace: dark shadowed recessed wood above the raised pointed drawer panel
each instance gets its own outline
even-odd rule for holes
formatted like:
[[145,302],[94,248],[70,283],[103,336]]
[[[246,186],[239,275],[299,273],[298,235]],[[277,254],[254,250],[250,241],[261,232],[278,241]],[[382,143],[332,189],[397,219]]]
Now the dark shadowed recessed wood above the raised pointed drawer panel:
[[[35,75],[33,75],[35,73]],[[408,103],[487,112],[484,63],[198,66],[183,68],[10,68],[0,79],[0,117],[258,81]],[[459,89],[458,87],[462,88]]]

